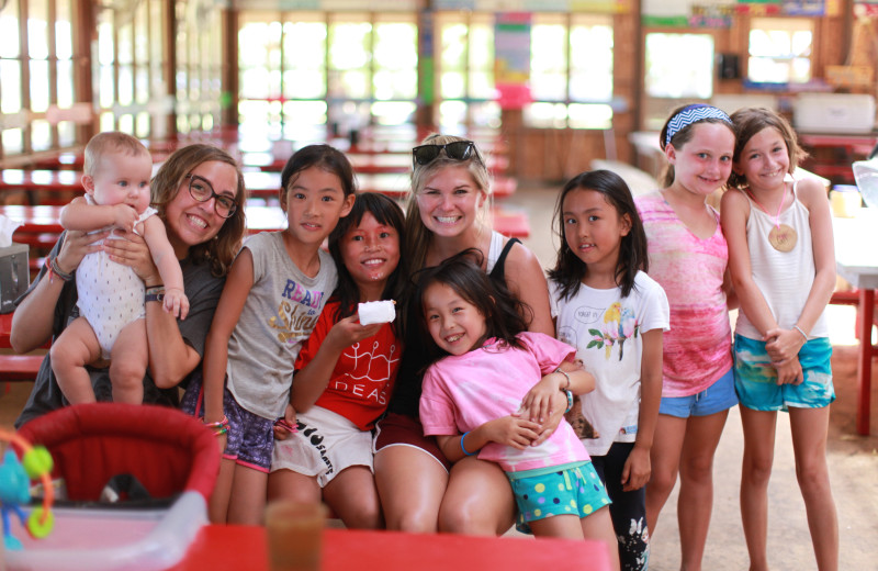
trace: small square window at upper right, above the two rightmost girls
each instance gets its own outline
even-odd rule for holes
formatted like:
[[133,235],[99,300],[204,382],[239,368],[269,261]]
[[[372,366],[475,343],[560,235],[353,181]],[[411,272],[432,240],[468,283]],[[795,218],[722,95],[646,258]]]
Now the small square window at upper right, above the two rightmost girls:
[[813,24],[808,19],[754,18],[747,79],[755,83],[804,83],[811,79]]

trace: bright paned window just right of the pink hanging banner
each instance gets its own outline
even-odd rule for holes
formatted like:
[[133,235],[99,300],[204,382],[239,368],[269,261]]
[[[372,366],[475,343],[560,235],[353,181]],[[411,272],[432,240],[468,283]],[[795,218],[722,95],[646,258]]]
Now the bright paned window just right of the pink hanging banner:
[[612,126],[611,16],[533,14],[526,124],[536,127]]

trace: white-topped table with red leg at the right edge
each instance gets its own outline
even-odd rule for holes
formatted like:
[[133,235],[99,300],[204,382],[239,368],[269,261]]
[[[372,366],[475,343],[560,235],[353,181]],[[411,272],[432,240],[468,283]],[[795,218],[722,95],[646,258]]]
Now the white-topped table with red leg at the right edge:
[[875,290],[878,289],[878,210],[860,209],[853,219],[832,221],[835,266],[838,276],[859,290],[857,301],[857,434],[869,434],[871,405],[871,359],[878,347],[871,344],[875,321]]

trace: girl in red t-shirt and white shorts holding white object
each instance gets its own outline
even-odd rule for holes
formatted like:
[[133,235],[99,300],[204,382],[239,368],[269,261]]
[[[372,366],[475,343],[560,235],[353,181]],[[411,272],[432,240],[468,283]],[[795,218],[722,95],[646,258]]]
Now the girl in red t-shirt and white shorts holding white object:
[[329,236],[338,287],[295,363],[278,421],[269,499],[323,500],[349,528],[383,526],[372,475],[372,427],[390,400],[402,344],[392,323],[360,324],[359,303],[399,298],[403,212],[357,195]]

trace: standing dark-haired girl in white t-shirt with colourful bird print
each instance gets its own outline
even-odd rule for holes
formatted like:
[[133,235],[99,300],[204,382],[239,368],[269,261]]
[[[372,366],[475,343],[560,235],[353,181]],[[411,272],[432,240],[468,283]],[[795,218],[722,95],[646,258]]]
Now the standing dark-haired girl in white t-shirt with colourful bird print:
[[624,181],[608,170],[566,183],[555,208],[561,247],[549,272],[558,338],[576,348],[595,390],[567,419],[612,500],[622,569],[646,569],[645,488],[662,396],[667,298],[646,276],[646,234]]

